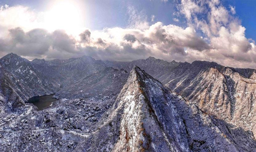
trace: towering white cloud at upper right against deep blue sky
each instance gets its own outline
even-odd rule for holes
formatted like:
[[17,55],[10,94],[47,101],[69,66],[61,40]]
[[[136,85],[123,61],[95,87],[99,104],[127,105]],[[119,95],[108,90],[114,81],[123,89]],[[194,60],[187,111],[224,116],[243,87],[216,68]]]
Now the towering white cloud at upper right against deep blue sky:
[[[253,67],[256,67],[255,44],[245,37],[246,28],[234,16],[233,6],[229,6],[229,11],[219,0],[181,0],[178,10],[187,19],[188,26],[202,31],[210,44],[210,49],[200,53],[201,60],[235,67],[246,67],[254,62]],[[194,58],[195,52],[189,53],[191,59]]]

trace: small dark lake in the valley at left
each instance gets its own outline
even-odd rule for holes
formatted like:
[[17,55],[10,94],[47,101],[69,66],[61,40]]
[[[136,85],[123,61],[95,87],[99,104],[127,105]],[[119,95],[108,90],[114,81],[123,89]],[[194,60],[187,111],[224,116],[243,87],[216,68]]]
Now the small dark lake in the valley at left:
[[38,110],[45,109],[52,104],[52,102],[56,101],[57,99],[52,98],[54,94],[44,95],[44,96],[33,96],[32,98],[28,99],[28,103],[32,103],[37,106]]

